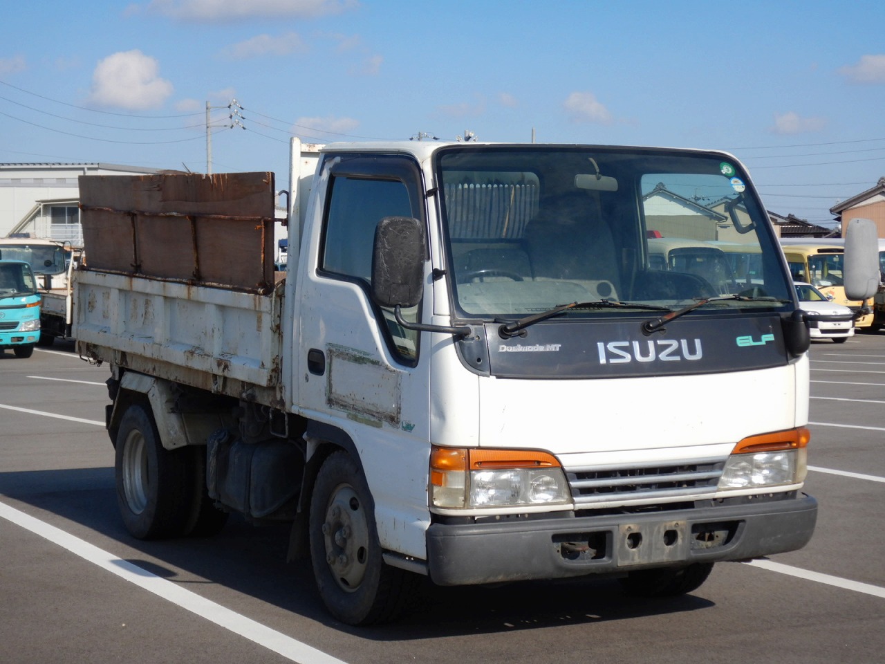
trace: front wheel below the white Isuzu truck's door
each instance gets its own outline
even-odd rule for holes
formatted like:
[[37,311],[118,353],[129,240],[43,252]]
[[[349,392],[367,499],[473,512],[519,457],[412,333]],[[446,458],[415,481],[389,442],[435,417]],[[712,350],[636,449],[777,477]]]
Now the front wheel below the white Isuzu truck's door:
[[310,547],[319,596],[349,625],[390,622],[408,605],[419,577],[381,558],[366,478],[347,452],[333,452],[313,486]]

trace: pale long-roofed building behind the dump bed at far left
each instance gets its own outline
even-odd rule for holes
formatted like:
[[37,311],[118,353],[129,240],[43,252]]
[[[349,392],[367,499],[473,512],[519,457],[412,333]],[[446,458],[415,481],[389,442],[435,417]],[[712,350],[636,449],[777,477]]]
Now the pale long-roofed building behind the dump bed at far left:
[[82,244],[80,175],[145,175],[156,168],[116,164],[0,164],[0,237],[30,233]]

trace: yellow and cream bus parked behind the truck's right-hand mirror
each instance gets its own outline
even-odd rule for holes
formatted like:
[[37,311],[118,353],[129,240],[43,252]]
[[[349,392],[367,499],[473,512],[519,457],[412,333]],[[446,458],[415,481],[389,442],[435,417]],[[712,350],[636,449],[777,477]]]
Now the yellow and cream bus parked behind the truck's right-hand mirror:
[[[789,272],[794,282],[811,283],[820,290],[830,302],[845,305],[858,311],[863,305],[859,300],[845,297],[843,286],[843,269],[845,253],[841,239],[784,239],[781,238],[781,250],[787,258]],[[873,300],[867,301],[873,305]],[[873,328],[873,313],[861,316],[854,321],[854,327],[860,330]]]

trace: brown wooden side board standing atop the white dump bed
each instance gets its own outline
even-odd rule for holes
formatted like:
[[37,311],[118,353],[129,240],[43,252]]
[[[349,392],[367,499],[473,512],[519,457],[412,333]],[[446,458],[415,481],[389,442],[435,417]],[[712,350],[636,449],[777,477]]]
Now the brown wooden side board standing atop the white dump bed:
[[273,173],[83,175],[87,269],[273,288]]

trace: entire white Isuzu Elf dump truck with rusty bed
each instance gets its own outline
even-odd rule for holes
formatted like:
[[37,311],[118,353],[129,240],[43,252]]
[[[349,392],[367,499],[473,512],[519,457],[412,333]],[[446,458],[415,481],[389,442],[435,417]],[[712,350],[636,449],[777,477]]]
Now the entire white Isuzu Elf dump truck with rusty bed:
[[[355,625],[419,575],[668,596],[812,537],[807,321],[734,157],[294,140],[290,164],[285,274],[273,174],[81,177],[74,335],[111,368],[135,537],[291,521]],[[726,227],[760,256],[736,292],[650,267],[650,236]]]

